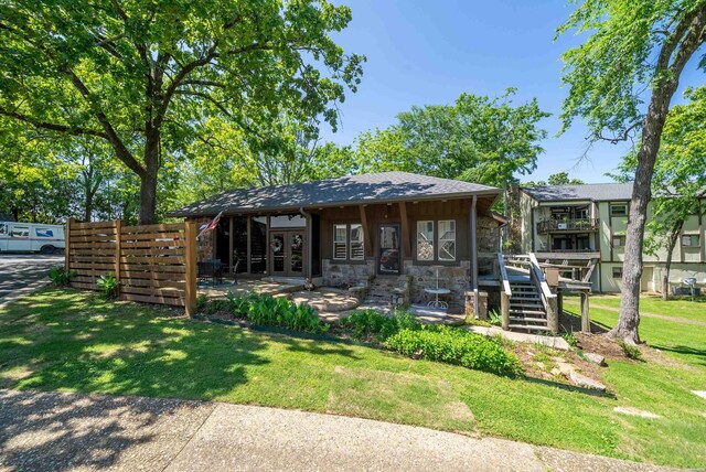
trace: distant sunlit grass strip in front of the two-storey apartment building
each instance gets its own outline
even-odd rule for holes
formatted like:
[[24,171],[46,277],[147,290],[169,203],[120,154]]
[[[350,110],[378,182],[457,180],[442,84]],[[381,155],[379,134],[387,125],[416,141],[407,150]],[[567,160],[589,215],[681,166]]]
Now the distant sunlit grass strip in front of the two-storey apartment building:
[[[565,300],[578,303],[576,297],[567,297]],[[619,309],[620,296],[591,296],[590,303]],[[706,297],[696,297],[694,301],[689,297],[671,298],[665,301],[662,300],[662,297],[642,296],[640,297],[640,311],[706,322]]]

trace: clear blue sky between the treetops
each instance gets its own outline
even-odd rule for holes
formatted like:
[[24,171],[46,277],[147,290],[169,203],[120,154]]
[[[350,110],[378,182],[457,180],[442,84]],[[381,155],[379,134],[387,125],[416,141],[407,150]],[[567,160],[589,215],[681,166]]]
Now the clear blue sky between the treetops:
[[580,121],[556,137],[567,95],[560,55],[580,40],[569,35],[553,41],[556,26],[571,11],[565,0],[343,2],[353,21],[334,37],[346,52],[365,54],[367,63],[359,92],[349,93],[341,106],[339,131],[324,127],[327,139],[349,144],[361,131],[392,125],[413,105],[450,104],[464,92],[496,96],[512,86],[516,103],[537,97],[553,115],[543,122],[549,132],[542,143],[545,153],[532,175],[520,175],[522,181],[567,171],[586,182],[606,182],[610,179],[603,174],[629,149],[628,143],[598,142],[587,153],[587,129]]

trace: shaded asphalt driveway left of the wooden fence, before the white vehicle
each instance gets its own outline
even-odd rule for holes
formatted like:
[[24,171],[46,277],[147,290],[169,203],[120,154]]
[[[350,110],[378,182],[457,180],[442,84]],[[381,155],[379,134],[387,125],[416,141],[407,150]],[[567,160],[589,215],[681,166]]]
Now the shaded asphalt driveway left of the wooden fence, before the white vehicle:
[[61,255],[1,254],[0,307],[40,287],[50,269],[63,262]]

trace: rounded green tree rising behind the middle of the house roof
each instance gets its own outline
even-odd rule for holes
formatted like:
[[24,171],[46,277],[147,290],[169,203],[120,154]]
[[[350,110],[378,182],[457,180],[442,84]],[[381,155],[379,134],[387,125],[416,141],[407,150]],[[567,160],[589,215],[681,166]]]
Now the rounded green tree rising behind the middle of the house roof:
[[413,107],[387,129],[356,141],[361,171],[399,170],[505,186],[536,169],[549,116],[536,99],[514,105],[514,89],[498,98],[462,94],[453,105]]

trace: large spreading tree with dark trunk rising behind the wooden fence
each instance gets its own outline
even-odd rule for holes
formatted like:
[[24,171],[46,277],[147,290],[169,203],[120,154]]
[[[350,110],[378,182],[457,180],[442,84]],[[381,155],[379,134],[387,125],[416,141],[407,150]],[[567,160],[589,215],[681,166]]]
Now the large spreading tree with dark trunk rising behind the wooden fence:
[[108,142],[150,223],[160,169],[210,116],[247,130],[284,109],[335,129],[364,61],[330,36],[350,20],[325,0],[6,1],[0,115]]

